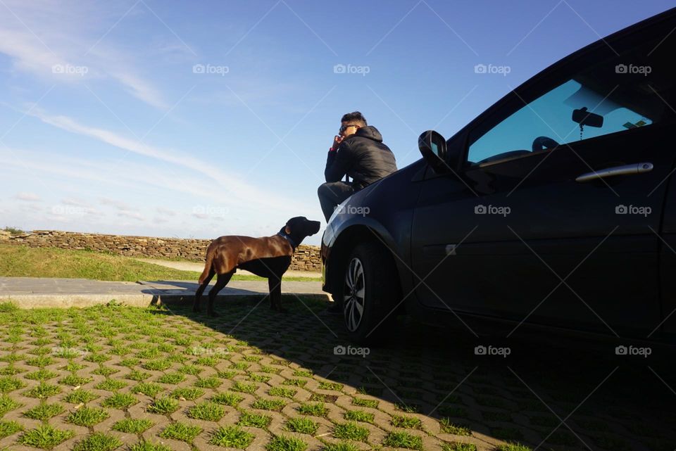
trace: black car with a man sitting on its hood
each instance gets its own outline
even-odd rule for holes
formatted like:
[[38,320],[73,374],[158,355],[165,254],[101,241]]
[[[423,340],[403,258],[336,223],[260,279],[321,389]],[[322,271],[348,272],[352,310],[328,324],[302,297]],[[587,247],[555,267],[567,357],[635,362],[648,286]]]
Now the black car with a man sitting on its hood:
[[676,336],[675,28],[572,53],[345,201],[321,252],[349,336],[403,313]]

